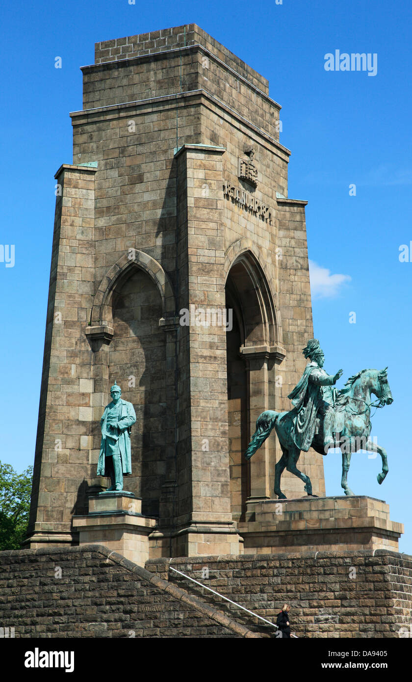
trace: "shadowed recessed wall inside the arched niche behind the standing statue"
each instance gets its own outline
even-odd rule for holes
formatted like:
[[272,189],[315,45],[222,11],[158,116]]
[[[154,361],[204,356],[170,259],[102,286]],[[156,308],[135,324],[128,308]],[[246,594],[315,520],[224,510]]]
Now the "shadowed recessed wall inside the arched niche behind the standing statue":
[[124,487],[142,498],[142,513],[158,516],[164,482],[166,336],[159,319],[162,299],[147,272],[132,268],[113,288],[113,340],[108,349],[109,385],[132,402],[132,475]]

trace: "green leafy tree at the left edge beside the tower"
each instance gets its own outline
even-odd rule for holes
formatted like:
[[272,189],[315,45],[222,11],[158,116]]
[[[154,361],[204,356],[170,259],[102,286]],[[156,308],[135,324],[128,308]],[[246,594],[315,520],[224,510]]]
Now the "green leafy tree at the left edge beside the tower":
[[0,462],[0,551],[18,550],[29,522],[33,466],[23,473]]

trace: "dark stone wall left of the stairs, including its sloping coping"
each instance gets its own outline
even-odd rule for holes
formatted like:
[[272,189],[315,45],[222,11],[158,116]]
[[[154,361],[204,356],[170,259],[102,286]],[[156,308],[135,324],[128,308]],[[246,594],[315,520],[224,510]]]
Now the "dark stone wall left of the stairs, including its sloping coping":
[[261,637],[104,546],[0,552],[0,624],[16,638]]

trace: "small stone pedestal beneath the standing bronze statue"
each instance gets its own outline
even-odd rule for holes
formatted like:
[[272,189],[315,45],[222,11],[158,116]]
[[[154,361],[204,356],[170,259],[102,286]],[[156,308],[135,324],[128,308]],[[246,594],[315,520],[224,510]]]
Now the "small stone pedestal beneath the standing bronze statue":
[[144,566],[149,559],[149,534],[156,519],[142,516],[142,501],[132,492],[100,492],[89,497],[89,514],[74,516],[79,544],[105,545]]

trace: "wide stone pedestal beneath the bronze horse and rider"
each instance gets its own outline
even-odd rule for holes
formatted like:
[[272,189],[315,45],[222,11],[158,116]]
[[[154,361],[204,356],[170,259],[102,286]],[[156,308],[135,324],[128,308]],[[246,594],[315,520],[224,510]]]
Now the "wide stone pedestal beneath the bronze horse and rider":
[[245,554],[385,549],[398,552],[403,524],[389,505],[367,496],[303,497],[248,504],[239,523]]

